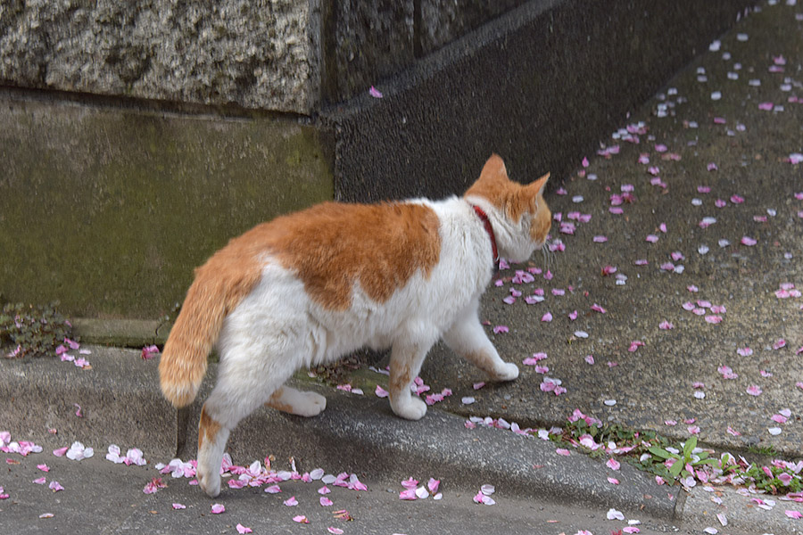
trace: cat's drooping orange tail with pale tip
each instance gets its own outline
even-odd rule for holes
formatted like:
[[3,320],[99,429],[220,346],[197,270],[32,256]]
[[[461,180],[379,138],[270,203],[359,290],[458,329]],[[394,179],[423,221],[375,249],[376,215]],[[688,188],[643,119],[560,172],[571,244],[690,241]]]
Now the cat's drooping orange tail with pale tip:
[[259,270],[254,273],[242,265],[232,270],[231,264],[224,265],[227,262],[220,260],[219,253],[195,271],[195,282],[186,292],[184,305],[161,352],[161,391],[177,408],[195,399],[223,320],[259,279]]

